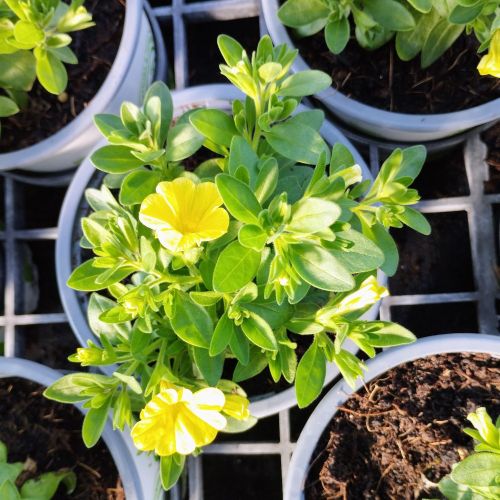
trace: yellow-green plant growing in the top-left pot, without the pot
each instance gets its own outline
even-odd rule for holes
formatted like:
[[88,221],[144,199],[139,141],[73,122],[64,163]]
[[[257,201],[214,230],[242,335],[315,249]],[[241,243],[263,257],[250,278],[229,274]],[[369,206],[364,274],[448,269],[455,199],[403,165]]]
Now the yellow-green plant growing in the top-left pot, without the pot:
[[78,60],[69,33],[94,26],[84,0],[0,0],[0,118],[26,106],[38,79],[52,94],[67,86],[65,64]]

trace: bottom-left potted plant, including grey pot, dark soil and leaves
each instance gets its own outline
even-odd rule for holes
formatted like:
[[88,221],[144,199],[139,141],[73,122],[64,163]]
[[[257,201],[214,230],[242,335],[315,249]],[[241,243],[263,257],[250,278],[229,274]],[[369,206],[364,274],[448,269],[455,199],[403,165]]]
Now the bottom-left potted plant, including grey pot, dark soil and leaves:
[[[113,432],[109,423],[102,423],[103,441],[86,450],[75,429],[87,410],[77,398],[71,407],[42,395],[60,377],[38,363],[0,357],[0,497],[49,499],[62,481],[81,498],[159,499],[156,463],[137,455],[128,436]],[[20,486],[20,496],[11,483]]]

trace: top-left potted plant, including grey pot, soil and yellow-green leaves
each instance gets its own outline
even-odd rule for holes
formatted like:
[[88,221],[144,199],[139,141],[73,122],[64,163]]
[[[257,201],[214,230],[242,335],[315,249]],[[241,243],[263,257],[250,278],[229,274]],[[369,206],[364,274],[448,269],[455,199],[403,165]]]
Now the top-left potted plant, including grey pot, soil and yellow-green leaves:
[[142,1],[86,5],[92,18],[80,0],[0,3],[0,169],[77,165],[98,141],[93,116],[139,101],[152,81]]

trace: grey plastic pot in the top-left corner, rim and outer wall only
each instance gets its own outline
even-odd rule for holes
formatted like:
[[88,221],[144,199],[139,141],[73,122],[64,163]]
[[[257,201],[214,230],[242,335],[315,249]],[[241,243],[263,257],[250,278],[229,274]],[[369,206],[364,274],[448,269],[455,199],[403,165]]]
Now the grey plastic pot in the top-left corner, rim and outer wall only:
[[[70,123],[32,146],[0,154],[0,170],[19,168],[55,172],[78,165],[100,139],[93,118],[98,113],[117,113],[123,101],[140,102],[153,81],[155,65],[165,68],[165,50],[154,16],[146,15],[142,0],[128,0],[123,33],[115,61],[97,94]],[[158,42],[153,33],[160,37]],[[158,48],[158,54],[155,47]]]

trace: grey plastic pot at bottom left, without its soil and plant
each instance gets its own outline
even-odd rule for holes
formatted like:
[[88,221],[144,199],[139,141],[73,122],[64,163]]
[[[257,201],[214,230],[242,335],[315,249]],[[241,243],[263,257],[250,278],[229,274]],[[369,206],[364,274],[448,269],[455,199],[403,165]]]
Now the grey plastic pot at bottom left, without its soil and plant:
[[[48,386],[61,376],[62,373],[32,361],[0,357],[0,378],[20,377]],[[82,413],[85,412],[76,406]],[[164,498],[159,482],[158,462],[146,454],[139,455],[128,434],[113,431],[109,421],[104,428],[102,439],[113,457],[127,500]]]

